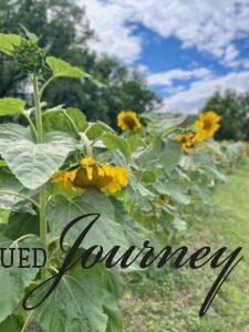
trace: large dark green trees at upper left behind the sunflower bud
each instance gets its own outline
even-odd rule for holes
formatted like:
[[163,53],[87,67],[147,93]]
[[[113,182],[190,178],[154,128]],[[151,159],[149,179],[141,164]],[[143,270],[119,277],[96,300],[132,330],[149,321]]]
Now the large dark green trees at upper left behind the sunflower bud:
[[[86,48],[93,38],[84,9],[69,0],[2,0],[0,3],[0,32],[15,33],[20,24],[40,35],[40,45],[106,84],[98,89],[91,82],[61,80],[45,92],[49,105],[66,101],[79,107],[89,120],[102,120],[115,125],[121,110],[149,111],[160,100],[152,92],[137,71],[121,65],[115,59],[98,58]],[[27,97],[27,77],[7,56],[0,58],[0,97]],[[24,91],[24,92],[23,92]],[[28,97],[29,100],[29,97]]]

